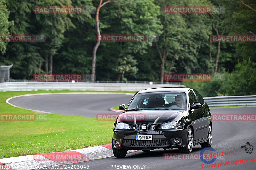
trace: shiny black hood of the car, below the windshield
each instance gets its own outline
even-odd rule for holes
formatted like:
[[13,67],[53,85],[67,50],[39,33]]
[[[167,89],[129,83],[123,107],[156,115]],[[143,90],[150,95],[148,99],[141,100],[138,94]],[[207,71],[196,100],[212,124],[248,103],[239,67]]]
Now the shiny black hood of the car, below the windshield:
[[160,124],[175,120],[185,110],[141,110],[127,111],[117,117],[118,122],[128,124]]

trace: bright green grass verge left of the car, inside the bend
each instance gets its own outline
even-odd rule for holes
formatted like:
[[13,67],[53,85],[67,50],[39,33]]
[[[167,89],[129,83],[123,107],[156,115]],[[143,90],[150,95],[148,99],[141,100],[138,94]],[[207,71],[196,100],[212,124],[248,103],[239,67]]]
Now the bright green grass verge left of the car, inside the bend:
[[[7,104],[5,101],[10,97],[23,94],[54,92],[106,91],[58,90],[0,92],[0,113],[42,114],[13,107]],[[48,120],[0,121],[0,158],[60,152],[111,143],[114,121],[97,121],[96,118],[73,115],[46,113],[44,113],[44,115],[47,115]]]

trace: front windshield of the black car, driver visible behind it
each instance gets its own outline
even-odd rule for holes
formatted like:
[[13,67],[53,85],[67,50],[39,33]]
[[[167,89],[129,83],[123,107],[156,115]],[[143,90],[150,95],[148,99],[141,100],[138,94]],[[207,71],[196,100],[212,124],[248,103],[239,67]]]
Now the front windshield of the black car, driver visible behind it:
[[136,110],[187,110],[183,92],[151,92],[137,94],[126,111]]

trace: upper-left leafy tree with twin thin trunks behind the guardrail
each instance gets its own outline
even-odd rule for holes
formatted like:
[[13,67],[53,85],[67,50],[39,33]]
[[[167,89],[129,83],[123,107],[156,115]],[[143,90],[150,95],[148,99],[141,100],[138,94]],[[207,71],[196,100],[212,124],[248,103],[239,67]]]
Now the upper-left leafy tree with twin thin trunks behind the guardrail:
[[[72,6],[70,0],[54,0],[51,2],[45,2],[40,0],[37,3],[38,6]],[[35,14],[37,25],[37,30],[40,34],[46,36],[46,41],[44,42],[41,52],[41,56],[45,57],[45,72],[52,74],[53,69],[53,55],[57,54],[57,51],[62,46],[62,41],[64,39],[64,32],[70,27],[75,27],[71,22],[68,15],[64,14]],[[72,16],[72,14],[70,14]],[[49,68],[48,68],[48,57],[49,58]],[[49,70],[49,71],[48,71]]]

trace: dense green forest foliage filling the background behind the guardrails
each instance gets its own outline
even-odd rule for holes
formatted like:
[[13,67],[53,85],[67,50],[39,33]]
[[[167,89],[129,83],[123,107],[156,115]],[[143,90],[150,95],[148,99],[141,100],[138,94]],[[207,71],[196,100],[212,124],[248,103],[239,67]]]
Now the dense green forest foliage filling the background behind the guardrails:
[[[14,64],[14,79],[32,79],[36,73],[91,73],[96,14],[34,14],[33,7],[97,8],[99,2],[1,1],[1,35],[44,34],[46,41],[0,42],[0,64]],[[243,2],[256,9],[254,0]],[[165,14],[164,6],[222,6],[225,13]],[[256,13],[239,0],[117,0],[100,9],[99,21],[101,34],[157,35],[159,41],[101,42],[96,80],[161,81],[163,73],[216,71],[225,73],[226,80],[184,83],[203,96],[256,94],[256,43],[220,43],[218,55],[218,43],[210,42],[216,34],[256,34]]]

